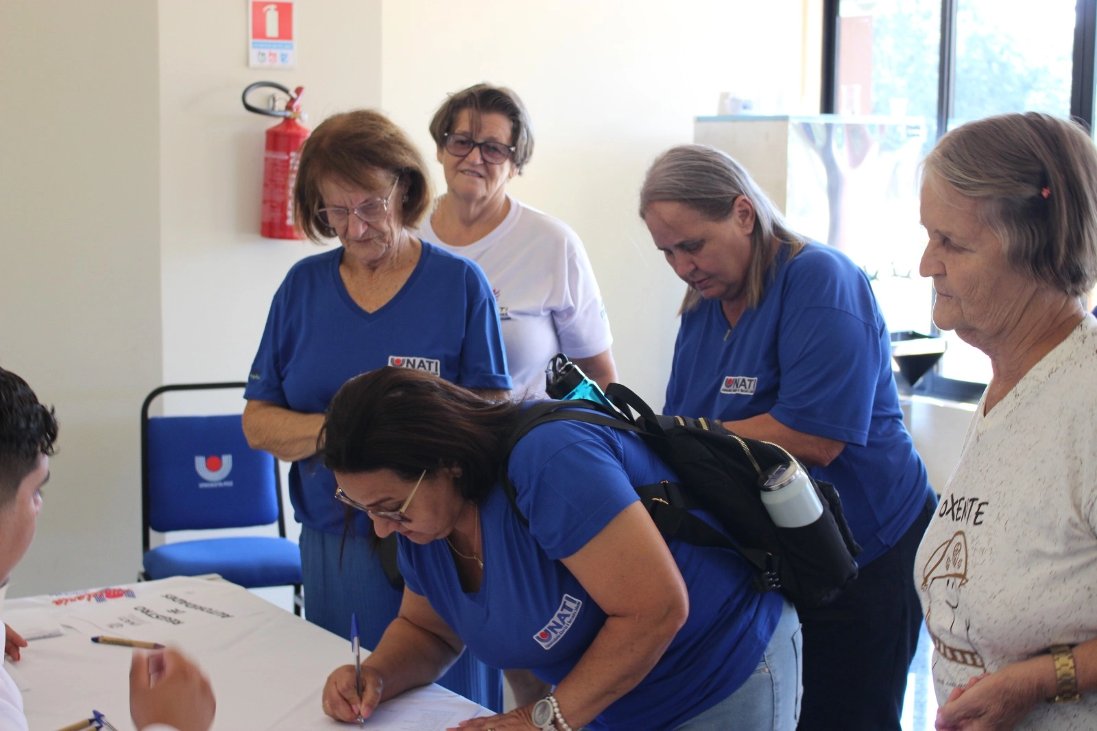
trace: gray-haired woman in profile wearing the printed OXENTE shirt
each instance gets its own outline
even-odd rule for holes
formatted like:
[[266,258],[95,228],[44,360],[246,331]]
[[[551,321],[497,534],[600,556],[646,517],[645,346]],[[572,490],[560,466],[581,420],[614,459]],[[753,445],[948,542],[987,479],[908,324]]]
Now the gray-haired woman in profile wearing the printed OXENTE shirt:
[[1097,728],[1097,149],[1037,113],[925,162],[934,322],[992,379],[918,550],[938,729]]

